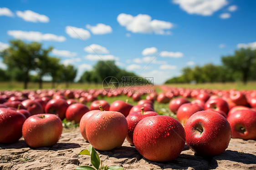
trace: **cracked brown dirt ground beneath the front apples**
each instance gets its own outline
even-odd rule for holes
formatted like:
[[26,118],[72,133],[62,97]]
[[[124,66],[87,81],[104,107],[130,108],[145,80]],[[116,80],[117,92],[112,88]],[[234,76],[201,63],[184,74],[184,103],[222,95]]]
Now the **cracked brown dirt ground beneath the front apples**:
[[[90,156],[78,154],[89,145],[79,128],[63,132],[52,147],[32,149],[21,138],[15,144],[0,144],[0,170],[74,170],[77,166],[91,165]],[[104,165],[119,165],[124,170],[256,170],[255,140],[231,139],[227,150],[213,157],[195,155],[185,145],[178,158],[164,163],[143,158],[127,140],[119,149],[97,152]]]

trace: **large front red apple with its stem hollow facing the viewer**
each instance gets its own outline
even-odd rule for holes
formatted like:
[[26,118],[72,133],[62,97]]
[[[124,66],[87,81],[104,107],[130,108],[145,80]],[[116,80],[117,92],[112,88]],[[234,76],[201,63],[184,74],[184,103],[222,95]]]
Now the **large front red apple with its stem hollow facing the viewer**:
[[204,156],[220,155],[227,149],[231,138],[229,122],[210,110],[193,114],[185,124],[185,133],[189,148]]

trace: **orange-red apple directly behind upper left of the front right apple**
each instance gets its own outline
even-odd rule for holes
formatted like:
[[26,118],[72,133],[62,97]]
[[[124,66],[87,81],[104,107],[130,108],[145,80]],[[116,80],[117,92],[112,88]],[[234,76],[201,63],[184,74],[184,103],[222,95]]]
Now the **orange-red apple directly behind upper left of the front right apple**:
[[198,104],[184,103],[177,111],[177,120],[184,126],[191,115],[202,110],[204,108]]

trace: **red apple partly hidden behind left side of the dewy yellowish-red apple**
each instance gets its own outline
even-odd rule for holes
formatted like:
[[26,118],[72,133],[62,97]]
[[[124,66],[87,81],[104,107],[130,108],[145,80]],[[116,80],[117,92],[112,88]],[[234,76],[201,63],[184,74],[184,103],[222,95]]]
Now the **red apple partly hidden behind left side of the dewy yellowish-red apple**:
[[66,119],[69,121],[74,120],[75,123],[79,123],[82,116],[86,114],[89,110],[87,105],[84,105],[82,103],[74,103],[70,106],[68,106],[66,110]]

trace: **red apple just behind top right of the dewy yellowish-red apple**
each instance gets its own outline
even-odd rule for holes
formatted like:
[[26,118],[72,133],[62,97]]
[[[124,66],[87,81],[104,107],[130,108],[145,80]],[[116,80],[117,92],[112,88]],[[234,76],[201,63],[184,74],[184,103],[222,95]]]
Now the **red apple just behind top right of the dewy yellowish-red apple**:
[[120,112],[126,117],[128,116],[129,111],[132,109],[132,107],[133,105],[126,103],[123,100],[116,100],[110,105],[109,111]]

